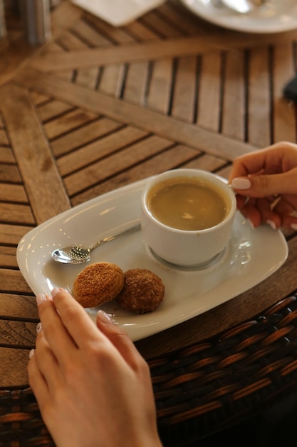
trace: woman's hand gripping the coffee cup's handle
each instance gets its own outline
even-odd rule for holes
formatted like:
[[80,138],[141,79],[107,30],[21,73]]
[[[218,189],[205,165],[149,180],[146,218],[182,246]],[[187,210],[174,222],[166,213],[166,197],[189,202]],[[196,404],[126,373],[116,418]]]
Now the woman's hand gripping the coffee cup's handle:
[[273,144],[235,159],[229,183],[252,226],[297,230],[296,144]]

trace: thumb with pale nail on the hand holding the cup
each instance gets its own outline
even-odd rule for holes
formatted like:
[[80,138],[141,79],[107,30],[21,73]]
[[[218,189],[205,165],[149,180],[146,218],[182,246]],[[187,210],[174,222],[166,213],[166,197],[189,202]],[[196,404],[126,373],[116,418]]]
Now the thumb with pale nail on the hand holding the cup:
[[236,177],[231,186],[242,196],[266,197],[273,194],[297,194],[297,170],[283,174]]

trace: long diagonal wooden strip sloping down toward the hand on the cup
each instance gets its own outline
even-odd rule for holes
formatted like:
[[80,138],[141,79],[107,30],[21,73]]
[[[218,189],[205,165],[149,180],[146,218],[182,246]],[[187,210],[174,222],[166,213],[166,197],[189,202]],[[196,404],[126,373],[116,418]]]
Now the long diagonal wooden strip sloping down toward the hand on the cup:
[[135,126],[163,138],[192,146],[212,155],[223,156],[229,160],[234,159],[234,156],[255,150],[255,147],[240,141],[218,136],[197,126],[157,114],[134,104],[124,103],[100,92],[54,79],[38,71],[26,69],[16,76],[16,80],[29,89],[43,91],[43,94],[55,94],[63,101],[75,103],[76,106],[93,112],[97,111],[125,124],[130,124],[132,121]]

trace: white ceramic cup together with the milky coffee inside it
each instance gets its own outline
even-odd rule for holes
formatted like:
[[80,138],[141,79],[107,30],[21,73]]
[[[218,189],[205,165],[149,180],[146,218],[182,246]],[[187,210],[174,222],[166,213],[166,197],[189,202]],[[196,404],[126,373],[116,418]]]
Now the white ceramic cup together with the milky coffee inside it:
[[176,169],[148,182],[141,208],[142,235],[152,253],[175,266],[194,268],[226,247],[236,200],[222,177]]

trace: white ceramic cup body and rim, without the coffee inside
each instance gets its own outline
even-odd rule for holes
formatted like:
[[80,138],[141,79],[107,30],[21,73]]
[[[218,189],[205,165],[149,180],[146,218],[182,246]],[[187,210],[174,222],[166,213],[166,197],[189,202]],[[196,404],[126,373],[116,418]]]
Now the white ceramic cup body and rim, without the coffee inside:
[[[173,228],[156,218],[151,206],[151,197],[176,181],[180,183],[181,178],[182,181],[186,178],[186,183],[198,182],[199,185],[213,189],[215,194],[219,194],[225,205],[225,216],[222,221],[209,228],[189,230]],[[187,200],[186,196],[184,200]],[[175,204],[172,206],[175,207]],[[167,210],[167,206],[163,206],[162,209]],[[170,209],[167,211],[170,212]],[[142,238],[152,253],[162,261],[179,268],[199,268],[214,260],[226,247],[231,237],[235,211],[235,194],[226,183],[226,179],[198,169],[165,171],[150,179],[142,192]]]

